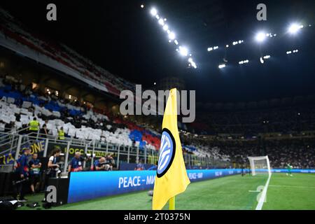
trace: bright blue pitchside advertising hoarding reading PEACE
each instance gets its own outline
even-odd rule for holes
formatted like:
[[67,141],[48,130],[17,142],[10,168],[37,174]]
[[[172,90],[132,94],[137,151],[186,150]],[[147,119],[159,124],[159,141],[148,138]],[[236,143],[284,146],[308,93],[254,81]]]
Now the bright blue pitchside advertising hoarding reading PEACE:
[[[244,171],[248,172],[248,169]],[[272,172],[285,173],[288,169],[272,169]],[[291,172],[315,174],[315,169],[292,169]],[[187,173],[190,181],[195,182],[241,174],[241,169],[188,169]],[[73,172],[70,175],[68,203],[153,189],[155,175],[153,170]]]

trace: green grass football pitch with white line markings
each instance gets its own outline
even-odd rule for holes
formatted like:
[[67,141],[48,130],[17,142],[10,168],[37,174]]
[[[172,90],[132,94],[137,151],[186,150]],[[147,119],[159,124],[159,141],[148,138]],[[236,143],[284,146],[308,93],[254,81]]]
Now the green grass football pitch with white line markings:
[[[251,210],[257,206],[258,187],[264,186],[267,176],[226,176],[209,181],[190,183],[185,193],[176,196],[176,209]],[[39,202],[43,195],[27,197]],[[28,203],[29,203],[28,202]],[[102,197],[73,204],[52,207],[57,210],[137,210],[151,209],[148,191]],[[21,207],[20,209],[29,209]],[[42,209],[42,208],[41,208]],[[168,205],[165,206],[168,209]],[[314,174],[272,174],[262,209],[313,209],[315,210]]]

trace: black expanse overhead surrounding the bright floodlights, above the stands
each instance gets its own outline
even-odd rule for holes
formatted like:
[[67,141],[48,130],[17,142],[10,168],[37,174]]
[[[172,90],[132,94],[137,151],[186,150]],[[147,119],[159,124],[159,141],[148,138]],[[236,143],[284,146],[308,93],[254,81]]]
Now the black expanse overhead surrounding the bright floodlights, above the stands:
[[[267,22],[255,19],[258,3],[267,5]],[[57,5],[57,22],[45,19],[48,3]],[[144,3],[146,10],[140,8]],[[180,76],[197,101],[244,102],[315,94],[314,1],[16,1],[0,3],[25,27],[50,41],[69,45],[85,57],[127,80],[151,87],[165,76]],[[174,27],[179,42],[193,52],[198,69],[167,41],[148,8],[155,6]],[[312,27],[290,36],[290,22]],[[253,41],[260,29],[278,34],[261,47]],[[244,39],[243,45],[207,52]],[[287,50],[299,49],[297,55]],[[260,64],[260,55],[272,55]],[[226,57],[234,65],[218,69]],[[239,66],[241,59],[253,59]]]

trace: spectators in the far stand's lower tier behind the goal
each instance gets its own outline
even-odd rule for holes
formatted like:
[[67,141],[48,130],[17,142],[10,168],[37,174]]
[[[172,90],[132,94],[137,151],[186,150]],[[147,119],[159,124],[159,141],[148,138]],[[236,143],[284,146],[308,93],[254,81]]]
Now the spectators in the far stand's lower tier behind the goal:
[[273,168],[288,164],[297,169],[315,168],[315,139],[203,139],[192,140],[191,145],[214,160],[228,161],[234,165],[248,165],[249,156],[268,155]]

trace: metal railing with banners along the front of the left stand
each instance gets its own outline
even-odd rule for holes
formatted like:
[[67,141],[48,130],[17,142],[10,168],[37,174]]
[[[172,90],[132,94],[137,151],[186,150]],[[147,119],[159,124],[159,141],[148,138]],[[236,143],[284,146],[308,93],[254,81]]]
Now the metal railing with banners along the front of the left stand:
[[[105,155],[113,155],[116,162],[117,169],[120,168],[122,162],[125,163],[139,163],[144,165],[156,165],[158,161],[159,151],[151,148],[139,148],[139,146],[126,146],[123,144],[112,144],[106,141],[99,140],[86,140],[75,139],[73,137],[60,140],[57,137],[50,134],[8,134],[0,132],[0,134],[6,134],[8,141],[8,149],[0,148],[0,162],[5,161],[3,157],[11,155],[10,164],[0,164],[0,172],[3,169],[11,167],[20,155],[20,152],[24,147],[30,147],[31,153],[40,153],[40,157],[48,157],[55,146],[59,146],[62,149],[61,167],[62,171],[66,172],[69,162],[73,158],[76,151],[80,151],[82,154],[95,155],[83,162],[83,168],[88,168],[93,165],[95,159]],[[14,155],[14,157],[13,157]],[[2,158],[2,160],[1,160]],[[15,161],[12,160],[14,158]],[[200,157],[193,154],[184,153],[184,161],[187,166],[190,167],[230,167],[230,162],[223,160],[215,160],[211,157]]]

